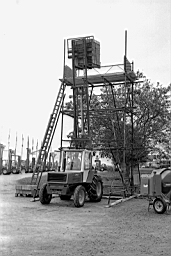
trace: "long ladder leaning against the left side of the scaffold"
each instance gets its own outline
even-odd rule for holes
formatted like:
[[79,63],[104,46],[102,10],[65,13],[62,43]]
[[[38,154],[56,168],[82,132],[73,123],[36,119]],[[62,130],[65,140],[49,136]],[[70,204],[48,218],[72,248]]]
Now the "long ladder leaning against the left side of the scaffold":
[[43,142],[42,142],[41,148],[39,150],[36,164],[33,169],[31,185],[36,185],[36,189],[35,189],[34,195],[33,195],[34,198],[36,197],[36,194],[38,191],[40,179],[42,177],[42,172],[45,167],[46,159],[47,159],[50,147],[51,147],[52,139],[53,139],[55,129],[56,129],[56,126],[58,123],[58,119],[60,116],[61,108],[62,108],[64,97],[65,97],[65,94],[64,94],[65,88],[66,88],[66,83],[63,81],[59,88],[59,92],[58,92],[58,95],[56,98],[53,112],[50,115],[50,119],[49,119],[48,126],[46,129],[44,138],[43,138]]

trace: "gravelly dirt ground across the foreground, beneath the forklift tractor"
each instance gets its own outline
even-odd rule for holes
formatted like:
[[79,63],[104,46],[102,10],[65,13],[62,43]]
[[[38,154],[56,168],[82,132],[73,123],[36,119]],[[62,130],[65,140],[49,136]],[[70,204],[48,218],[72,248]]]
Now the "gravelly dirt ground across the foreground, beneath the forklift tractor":
[[16,180],[29,175],[0,175],[0,255],[171,255],[171,212],[148,212],[146,199],[75,208],[72,200],[45,206],[15,197]]

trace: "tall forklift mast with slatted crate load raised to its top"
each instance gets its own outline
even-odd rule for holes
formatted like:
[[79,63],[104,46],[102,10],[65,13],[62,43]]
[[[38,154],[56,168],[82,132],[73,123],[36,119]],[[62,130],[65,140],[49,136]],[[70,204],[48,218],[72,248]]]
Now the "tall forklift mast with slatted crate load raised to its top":
[[[100,68],[100,43],[93,36],[67,40],[68,58],[72,59],[74,134],[72,148],[92,148],[87,70]],[[76,85],[76,74],[82,70],[83,85]]]

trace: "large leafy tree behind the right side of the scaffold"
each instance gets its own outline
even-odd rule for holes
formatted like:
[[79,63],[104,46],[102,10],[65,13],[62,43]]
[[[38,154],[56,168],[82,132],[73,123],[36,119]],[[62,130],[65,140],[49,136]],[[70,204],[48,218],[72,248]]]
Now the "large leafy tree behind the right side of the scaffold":
[[[122,108],[125,104],[123,86],[104,87],[101,89],[100,95],[92,94],[91,96],[90,111],[94,113],[90,117],[93,145],[96,148],[101,148],[102,156],[109,157],[114,162],[123,161],[124,125],[125,154],[128,164],[130,161],[137,162],[145,159],[149,151],[160,140],[164,141],[165,144],[168,144],[169,141],[171,113],[168,93],[171,90],[171,85],[164,87],[158,83],[155,86],[143,74],[137,72],[137,76],[143,77],[144,80],[143,83],[134,85],[133,113],[131,112],[132,105],[127,99],[128,111],[125,120],[123,111],[110,110],[111,108]],[[131,85],[128,86],[127,90],[131,90]],[[86,106],[84,107],[86,108]],[[65,109],[73,110],[72,101],[66,103]],[[131,150],[132,144],[133,151]]]

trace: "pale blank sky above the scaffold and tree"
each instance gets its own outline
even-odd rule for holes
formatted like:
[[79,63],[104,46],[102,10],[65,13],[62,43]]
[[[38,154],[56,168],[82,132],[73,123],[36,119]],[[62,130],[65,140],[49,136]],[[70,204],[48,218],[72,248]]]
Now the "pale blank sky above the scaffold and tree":
[[[21,152],[43,140],[63,76],[64,39],[94,36],[101,63],[123,63],[154,84],[171,82],[170,0],[0,0],[0,143]],[[66,64],[71,67],[71,60]],[[69,93],[69,90],[67,91]],[[67,97],[66,97],[67,98]],[[73,129],[64,119],[64,136]],[[60,122],[52,149],[60,146]]]

